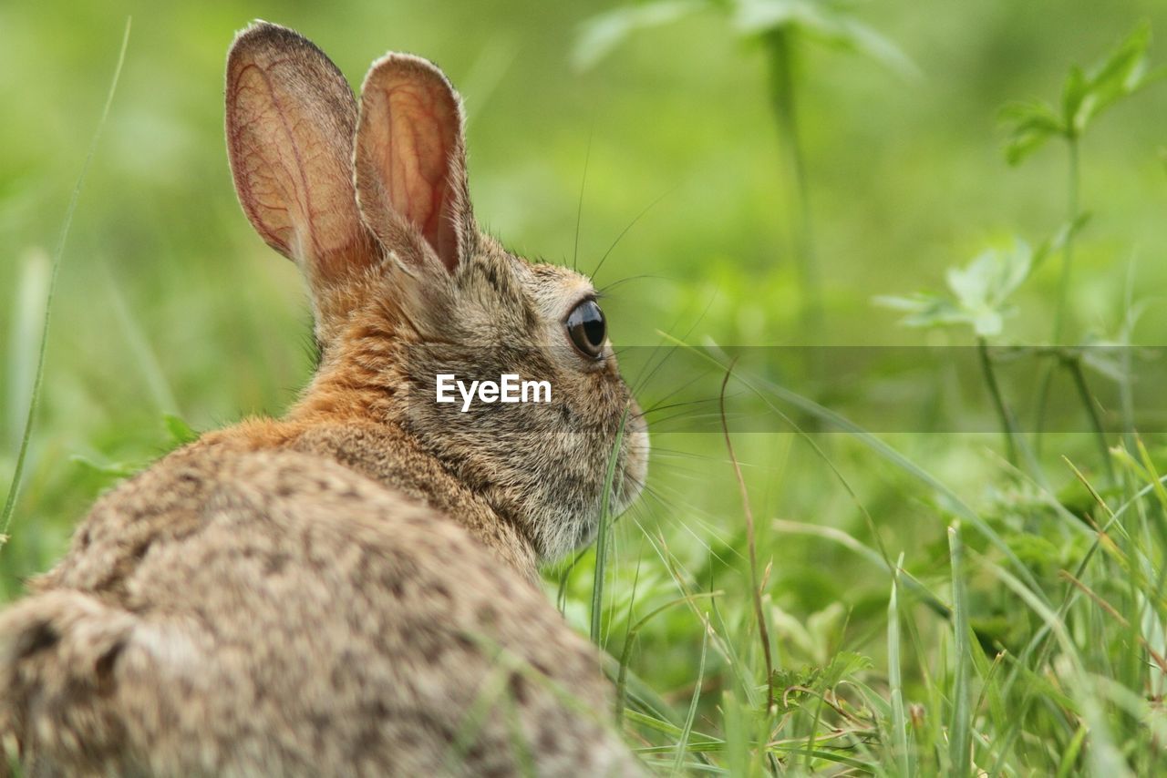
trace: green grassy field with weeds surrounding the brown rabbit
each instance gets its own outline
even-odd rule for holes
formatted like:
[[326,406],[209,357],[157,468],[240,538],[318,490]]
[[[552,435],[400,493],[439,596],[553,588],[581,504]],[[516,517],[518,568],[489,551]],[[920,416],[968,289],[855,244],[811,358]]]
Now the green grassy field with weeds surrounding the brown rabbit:
[[651,476],[545,580],[647,762],[1167,770],[1160,0],[0,5],[5,490],[58,271],[0,601],[103,490],[308,378],[224,153],[253,17],[351,82],[435,59],[480,219],[603,258]]

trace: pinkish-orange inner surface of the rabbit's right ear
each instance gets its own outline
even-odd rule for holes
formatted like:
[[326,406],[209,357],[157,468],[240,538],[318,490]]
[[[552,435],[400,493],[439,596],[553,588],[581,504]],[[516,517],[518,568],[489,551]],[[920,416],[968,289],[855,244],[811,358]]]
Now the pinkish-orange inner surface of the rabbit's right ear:
[[461,153],[455,97],[443,82],[428,72],[419,77],[412,68],[370,82],[361,143],[375,160],[387,205],[453,272],[459,261],[457,195],[450,176]]

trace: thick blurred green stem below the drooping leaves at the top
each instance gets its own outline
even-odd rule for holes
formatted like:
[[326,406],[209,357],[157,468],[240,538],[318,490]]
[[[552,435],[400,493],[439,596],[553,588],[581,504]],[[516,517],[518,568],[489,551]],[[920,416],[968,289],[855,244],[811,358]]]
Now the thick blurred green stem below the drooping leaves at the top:
[[766,35],[764,42],[769,61],[770,107],[778,122],[778,134],[787,157],[789,188],[797,209],[797,223],[791,231],[791,243],[802,286],[803,324],[808,331],[813,331],[822,323],[823,293],[815,254],[806,159],[802,135],[798,132],[791,33],[784,28],[774,29]]

